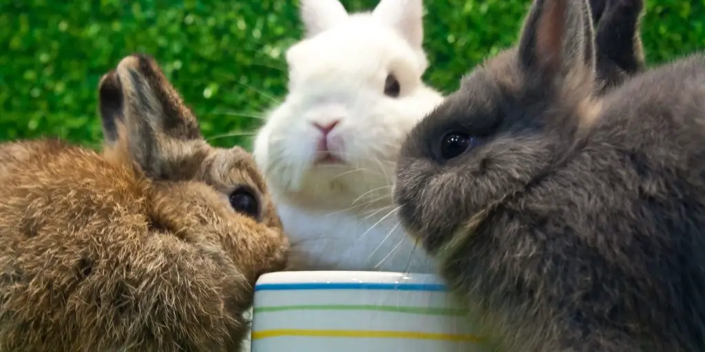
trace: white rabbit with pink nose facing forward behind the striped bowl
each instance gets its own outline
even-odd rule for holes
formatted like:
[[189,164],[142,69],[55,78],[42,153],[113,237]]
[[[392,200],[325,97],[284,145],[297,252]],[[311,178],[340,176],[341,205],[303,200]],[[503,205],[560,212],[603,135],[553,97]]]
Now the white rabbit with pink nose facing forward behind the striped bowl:
[[422,0],[381,0],[348,14],[301,0],[305,38],[286,52],[288,96],[254,156],[269,182],[298,270],[436,272],[398,225],[398,149],[443,96],[422,82]]

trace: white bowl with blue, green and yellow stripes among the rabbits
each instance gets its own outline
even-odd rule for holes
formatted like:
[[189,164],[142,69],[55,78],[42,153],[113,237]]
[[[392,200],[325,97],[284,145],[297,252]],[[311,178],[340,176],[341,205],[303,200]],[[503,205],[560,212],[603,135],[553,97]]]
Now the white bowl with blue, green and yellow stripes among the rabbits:
[[489,351],[435,275],[274,272],[253,312],[252,352]]

